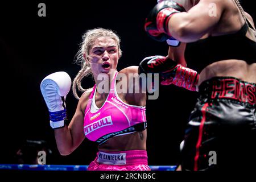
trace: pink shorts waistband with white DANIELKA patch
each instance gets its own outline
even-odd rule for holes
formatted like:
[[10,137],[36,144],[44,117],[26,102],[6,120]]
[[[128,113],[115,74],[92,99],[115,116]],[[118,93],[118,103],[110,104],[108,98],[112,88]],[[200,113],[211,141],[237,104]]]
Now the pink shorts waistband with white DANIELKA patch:
[[97,162],[109,165],[132,165],[145,164],[147,165],[147,151],[130,150],[118,152],[97,152]]

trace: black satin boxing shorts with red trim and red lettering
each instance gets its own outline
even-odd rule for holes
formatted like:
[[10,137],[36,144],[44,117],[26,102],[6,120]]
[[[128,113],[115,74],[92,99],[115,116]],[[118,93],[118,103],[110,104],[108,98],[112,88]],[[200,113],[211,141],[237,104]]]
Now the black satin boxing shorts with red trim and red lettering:
[[247,170],[256,167],[256,84],[214,77],[200,97],[181,144],[184,170]]

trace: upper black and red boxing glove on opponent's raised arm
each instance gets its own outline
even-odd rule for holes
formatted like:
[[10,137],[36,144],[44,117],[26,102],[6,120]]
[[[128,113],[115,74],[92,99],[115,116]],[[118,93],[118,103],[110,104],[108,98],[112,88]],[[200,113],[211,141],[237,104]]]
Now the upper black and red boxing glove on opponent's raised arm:
[[171,37],[168,33],[168,20],[175,13],[184,12],[183,6],[174,1],[162,1],[158,3],[148,14],[144,29],[152,39],[163,42]]

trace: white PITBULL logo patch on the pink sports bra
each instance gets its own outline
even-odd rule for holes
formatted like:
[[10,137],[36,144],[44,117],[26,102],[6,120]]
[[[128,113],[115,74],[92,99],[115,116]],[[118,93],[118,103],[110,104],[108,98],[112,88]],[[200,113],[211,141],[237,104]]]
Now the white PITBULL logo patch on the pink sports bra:
[[90,123],[89,125],[84,126],[84,133],[85,135],[91,133],[94,130],[100,129],[104,126],[113,125],[111,116],[107,116],[105,118],[99,119],[98,121],[95,121],[93,123]]

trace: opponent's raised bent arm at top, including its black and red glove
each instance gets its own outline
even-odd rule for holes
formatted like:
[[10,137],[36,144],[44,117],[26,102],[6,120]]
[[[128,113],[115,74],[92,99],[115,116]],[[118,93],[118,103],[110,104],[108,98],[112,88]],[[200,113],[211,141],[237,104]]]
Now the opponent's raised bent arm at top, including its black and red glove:
[[201,0],[188,12],[182,8],[173,1],[160,2],[146,19],[147,34],[154,39],[164,34],[181,42],[195,42],[214,28],[225,10],[221,0]]

